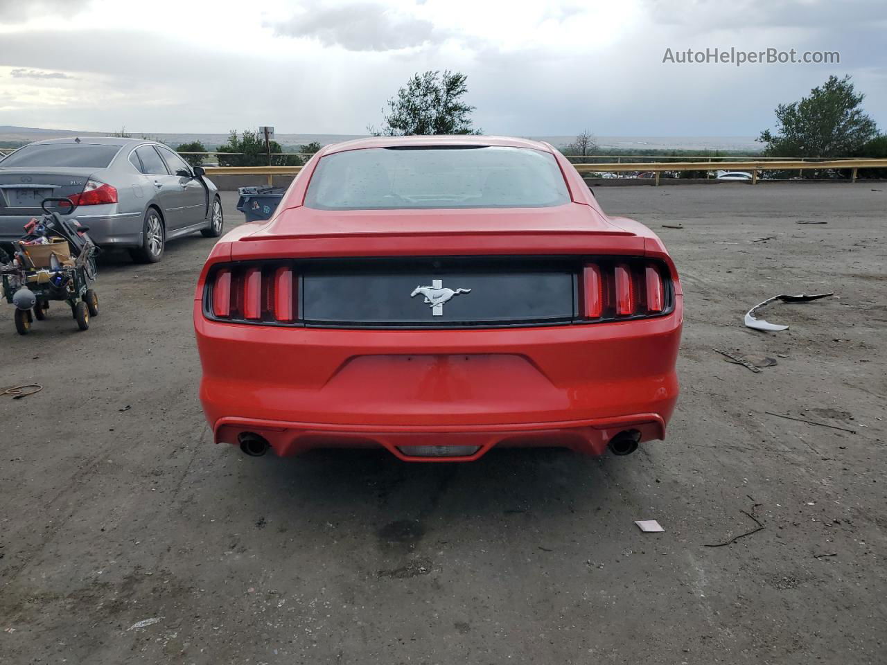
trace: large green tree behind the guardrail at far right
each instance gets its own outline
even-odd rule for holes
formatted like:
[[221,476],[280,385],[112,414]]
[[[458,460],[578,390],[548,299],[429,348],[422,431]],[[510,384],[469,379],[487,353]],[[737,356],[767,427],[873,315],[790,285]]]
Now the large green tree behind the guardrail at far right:
[[877,137],[875,121],[860,108],[865,95],[853,89],[850,75],[832,75],[810,96],[776,107],[777,129],[757,138],[773,157],[847,157]]

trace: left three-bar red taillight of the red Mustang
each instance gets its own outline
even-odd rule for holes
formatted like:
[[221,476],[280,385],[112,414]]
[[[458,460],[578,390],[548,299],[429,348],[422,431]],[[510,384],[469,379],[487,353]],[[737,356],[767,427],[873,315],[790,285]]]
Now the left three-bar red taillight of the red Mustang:
[[208,314],[248,322],[294,323],[298,276],[291,266],[225,266],[208,278]]

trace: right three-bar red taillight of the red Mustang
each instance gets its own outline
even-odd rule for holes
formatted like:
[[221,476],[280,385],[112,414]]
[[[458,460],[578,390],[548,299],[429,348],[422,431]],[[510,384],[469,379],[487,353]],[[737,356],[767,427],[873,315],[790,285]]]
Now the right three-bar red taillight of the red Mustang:
[[653,317],[669,309],[667,270],[653,262],[586,263],[582,271],[580,301],[587,320]]

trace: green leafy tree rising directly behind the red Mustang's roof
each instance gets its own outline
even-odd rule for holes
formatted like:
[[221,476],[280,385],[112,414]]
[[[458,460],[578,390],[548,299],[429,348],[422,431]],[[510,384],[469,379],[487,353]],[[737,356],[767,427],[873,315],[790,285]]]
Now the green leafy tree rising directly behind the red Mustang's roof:
[[382,126],[376,136],[400,137],[428,134],[481,134],[471,126],[474,106],[462,101],[467,93],[466,74],[445,70],[413,74],[406,85],[389,99],[389,113],[382,111]]

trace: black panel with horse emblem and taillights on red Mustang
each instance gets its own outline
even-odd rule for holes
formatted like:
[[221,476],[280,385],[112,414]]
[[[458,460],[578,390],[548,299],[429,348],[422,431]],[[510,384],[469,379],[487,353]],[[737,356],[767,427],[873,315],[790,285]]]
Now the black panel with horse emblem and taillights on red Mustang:
[[[421,290],[436,284],[459,292],[439,309]],[[596,324],[673,309],[664,262],[610,255],[231,262],[213,266],[203,293],[212,320],[326,328]]]

